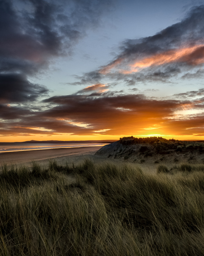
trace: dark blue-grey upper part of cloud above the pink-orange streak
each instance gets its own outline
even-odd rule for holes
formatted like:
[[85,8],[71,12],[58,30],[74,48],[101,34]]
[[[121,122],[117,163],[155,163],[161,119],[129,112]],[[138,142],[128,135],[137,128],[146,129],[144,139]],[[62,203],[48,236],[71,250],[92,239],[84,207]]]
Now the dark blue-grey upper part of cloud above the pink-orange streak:
[[[163,29],[156,35],[142,38],[140,42],[126,40],[121,47],[119,58],[137,58],[163,53],[164,51],[180,48],[181,46],[194,46],[204,42],[204,6],[195,6],[181,22]],[[203,52],[203,47],[199,47]],[[198,49],[188,54],[192,58],[200,58]]]

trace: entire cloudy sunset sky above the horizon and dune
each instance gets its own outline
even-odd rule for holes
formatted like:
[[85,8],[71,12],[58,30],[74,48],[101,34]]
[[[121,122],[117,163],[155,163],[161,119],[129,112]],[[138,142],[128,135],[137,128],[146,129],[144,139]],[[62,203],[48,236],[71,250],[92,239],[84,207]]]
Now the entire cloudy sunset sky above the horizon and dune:
[[0,0],[0,142],[204,139],[204,0]]

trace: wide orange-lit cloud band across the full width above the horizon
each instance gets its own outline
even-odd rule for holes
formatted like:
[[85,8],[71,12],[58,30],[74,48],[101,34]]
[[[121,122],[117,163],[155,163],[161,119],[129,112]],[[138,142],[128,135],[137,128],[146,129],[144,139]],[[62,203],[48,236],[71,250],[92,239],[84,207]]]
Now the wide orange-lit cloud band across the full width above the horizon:
[[[187,94],[199,92],[187,92]],[[91,93],[54,96],[42,105],[0,105],[1,135],[201,134],[204,98],[156,99],[143,94]]]

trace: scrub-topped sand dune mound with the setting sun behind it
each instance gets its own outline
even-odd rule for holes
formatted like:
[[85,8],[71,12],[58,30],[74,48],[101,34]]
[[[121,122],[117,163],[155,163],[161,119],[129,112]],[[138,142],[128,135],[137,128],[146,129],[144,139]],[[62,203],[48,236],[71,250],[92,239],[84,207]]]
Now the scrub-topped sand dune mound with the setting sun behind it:
[[96,155],[133,163],[204,163],[204,143],[131,136],[103,146]]

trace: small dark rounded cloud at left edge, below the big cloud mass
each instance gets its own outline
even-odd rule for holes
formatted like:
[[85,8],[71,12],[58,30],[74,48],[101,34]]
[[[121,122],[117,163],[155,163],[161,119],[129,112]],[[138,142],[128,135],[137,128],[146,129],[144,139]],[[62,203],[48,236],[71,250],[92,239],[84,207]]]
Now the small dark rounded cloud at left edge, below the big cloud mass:
[[0,74],[0,103],[34,101],[48,90],[19,74]]

